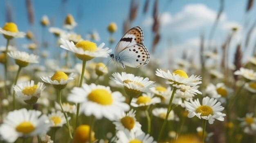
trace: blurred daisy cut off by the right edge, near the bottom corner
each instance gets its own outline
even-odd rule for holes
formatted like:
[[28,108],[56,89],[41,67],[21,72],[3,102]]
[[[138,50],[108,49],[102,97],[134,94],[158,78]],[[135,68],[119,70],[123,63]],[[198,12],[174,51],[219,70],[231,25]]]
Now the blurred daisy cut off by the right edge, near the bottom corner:
[[255,134],[256,132],[256,118],[253,113],[247,113],[244,118],[238,118],[241,121],[240,126],[244,128],[247,134]]

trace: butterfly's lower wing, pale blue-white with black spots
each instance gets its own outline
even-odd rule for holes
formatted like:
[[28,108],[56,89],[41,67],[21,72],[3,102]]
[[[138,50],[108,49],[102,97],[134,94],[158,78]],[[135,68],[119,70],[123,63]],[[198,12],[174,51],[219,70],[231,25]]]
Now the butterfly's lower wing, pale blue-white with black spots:
[[144,66],[148,64],[150,59],[147,48],[142,44],[127,47],[119,53],[119,57],[123,64],[132,68]]

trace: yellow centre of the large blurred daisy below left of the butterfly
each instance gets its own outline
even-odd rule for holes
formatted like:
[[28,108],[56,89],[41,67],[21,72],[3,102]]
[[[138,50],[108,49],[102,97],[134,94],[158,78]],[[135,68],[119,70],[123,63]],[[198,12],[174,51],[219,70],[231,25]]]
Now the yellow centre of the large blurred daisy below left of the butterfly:
[[105,89],[92,90],[88,99],[101,105],[111,105],[113,102],[111,94]]

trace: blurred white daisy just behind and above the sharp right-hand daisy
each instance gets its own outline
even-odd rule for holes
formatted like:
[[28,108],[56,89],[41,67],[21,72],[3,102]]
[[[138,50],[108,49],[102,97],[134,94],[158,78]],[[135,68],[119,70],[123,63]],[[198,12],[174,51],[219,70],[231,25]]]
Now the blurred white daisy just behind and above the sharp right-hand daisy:
[[225,86],[224,83],[218,83],[216,86],[210,83],[206,87],[205,92],[209,97],[218,99],[221,103],[225,103],[226,98],[231,95],[233,90]]

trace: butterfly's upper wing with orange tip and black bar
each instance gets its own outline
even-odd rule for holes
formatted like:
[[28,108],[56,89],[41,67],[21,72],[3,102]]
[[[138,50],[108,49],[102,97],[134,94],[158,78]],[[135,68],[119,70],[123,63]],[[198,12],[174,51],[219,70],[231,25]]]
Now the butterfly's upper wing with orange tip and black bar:
[[117,46],[114,51],[114,55],[119,55],[126,48],[141,44],[143,45],[144,35],[143,31],[139,26],[133,27],[121,38],[121,40],[117,43]]

